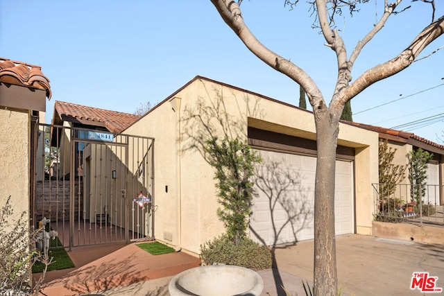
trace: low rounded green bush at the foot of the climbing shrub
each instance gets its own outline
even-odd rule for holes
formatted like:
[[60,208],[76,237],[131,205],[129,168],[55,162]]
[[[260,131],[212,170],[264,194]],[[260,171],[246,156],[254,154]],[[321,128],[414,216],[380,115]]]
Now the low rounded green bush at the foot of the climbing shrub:
[[241,238],[238,245],[226,235],[200,245],[200,260],[205,265],[223,263],[252,270],[271,268],[271,251],[250,238]]

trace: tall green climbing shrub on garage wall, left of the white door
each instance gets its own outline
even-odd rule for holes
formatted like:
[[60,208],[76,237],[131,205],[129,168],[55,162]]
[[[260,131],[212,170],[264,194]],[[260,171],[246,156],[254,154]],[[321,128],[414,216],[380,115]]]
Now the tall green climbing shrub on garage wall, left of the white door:
[[205,142],[205,150],[210,164],[216,169],[217,195],[223,206],[217,210],[217,215],[223,221],[228,238],[238,245],[248,229],[253,197],[250,177],[254,164],[261,159],[248,144],[228,137],[221,141],[213,137]]

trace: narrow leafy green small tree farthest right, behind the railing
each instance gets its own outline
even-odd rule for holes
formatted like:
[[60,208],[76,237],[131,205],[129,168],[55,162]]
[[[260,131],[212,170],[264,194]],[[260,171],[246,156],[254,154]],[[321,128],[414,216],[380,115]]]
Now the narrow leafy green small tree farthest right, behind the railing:
[[432,159],[433,153],[418,148],[407,154],[409,159],[409,181],[411,184],[410,197],[416,204],[425,196],[427,179],[427,162]]

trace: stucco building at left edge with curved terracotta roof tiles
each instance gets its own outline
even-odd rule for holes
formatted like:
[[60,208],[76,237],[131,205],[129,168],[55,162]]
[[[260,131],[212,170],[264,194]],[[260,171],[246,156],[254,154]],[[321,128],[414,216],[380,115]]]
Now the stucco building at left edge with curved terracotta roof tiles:
[[41,67],[0,58],[0,204],[10,196],[17,216],[29,214],[30,184],[43,178],[33,159],[42,155],[37,123],[44,121],[46,98],[51,87]]

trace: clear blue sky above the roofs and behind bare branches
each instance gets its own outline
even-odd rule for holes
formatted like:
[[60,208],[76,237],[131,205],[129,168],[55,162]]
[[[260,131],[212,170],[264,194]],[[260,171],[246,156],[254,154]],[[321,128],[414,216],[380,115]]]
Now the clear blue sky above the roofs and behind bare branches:
[[[348,55],[372,28],[375,11],[382,15],[383,2],[370,0],[354,17],[344,12],[337,19]],[[404,2],[401,8],[411,8],[393,15],[366,46],[353,78],[398,55],[429,24],[430,5]],[[264,45],[307,71],[329,102],[337,76],[334,53],[311,28],[314,19],[304,1],[293,10],[283,3],[243,1],[244,20]],[[436,16],[441,15],[444,3],[438,0]],[[422,56],[440,49],[435,54],[353,98],[353,119],[392,128],[444,116],[443,46],[441,36]],[[133,113],[197,75],[298,105],[296,82],[250,53],[210,1],[0,0],[0,57],[42,67],[53,92],[47,123],[55,101]],[[443,118],[423,128],[401,129],[440,142]]]

